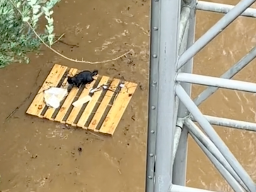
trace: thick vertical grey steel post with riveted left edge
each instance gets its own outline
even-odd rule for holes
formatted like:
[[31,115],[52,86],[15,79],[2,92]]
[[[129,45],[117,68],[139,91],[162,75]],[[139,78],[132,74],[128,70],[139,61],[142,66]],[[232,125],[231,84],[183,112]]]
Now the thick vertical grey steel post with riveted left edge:
[[[180,9],[181,0],[152,1],[151,16],[159,15],[159,18],[152,18],[150,26],[151,74],[149,81],[151,86],[148,128],[148,146],[150,148],[147,149],[147,191],[169,191],[172,184],[173,142],[178,109],[178,99],[175,96],[174,87],[178,58]],[[159,12],[159,10],[161,11]],[[156,130],[153,126],[156,127]],[[150,140],[154,139],[153,131],[156,135],[155,152],[151,146],[155,140]],[[153,142],[150,143],[150,141]],[[155,166],[152,167],[154,156]]]

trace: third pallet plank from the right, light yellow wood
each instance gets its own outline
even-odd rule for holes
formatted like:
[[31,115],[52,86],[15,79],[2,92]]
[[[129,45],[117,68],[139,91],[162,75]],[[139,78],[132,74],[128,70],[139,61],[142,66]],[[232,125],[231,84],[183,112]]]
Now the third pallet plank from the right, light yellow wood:
[[[99,84],[98,84],[98,87],[106,84],[109,80],[109,77],[108,76],[102,76]],[[101,92],[102,90],[99,90],[97,92],[95,92],[92,96],[92,99],[91,101],[88,103],[88,105],[86,106],[85,110],[83,111],[78,123],[77,123],[77,126],[81,127],[81,128],[85,128],[87,129],[87,127],[84,126],[84,124],[87,122],[90,114],[92,113],[93,111],[93,108],[95,107],[100,95],[101,95]]]

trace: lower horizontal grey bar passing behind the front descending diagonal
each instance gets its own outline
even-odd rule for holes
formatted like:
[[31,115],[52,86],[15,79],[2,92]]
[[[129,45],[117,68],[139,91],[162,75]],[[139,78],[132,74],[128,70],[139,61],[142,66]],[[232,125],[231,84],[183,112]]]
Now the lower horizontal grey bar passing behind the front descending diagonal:
[[[256,123],[204,115],[210,124],[256,132]],[[191,117],[195,120],[194,117]]]

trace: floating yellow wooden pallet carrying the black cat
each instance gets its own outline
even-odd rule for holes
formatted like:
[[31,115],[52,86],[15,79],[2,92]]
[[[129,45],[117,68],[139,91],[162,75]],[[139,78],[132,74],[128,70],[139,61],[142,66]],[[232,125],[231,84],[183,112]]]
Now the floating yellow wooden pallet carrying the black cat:
[[[61,107],[54,109],[46,106],[43,91],[50,87],[66,87],[67,76],[73,76],[79,71],[75,68],[55,64],[40,90],[36,94],[26,113],[40,118],[88,129],[91,131],[113,135],[120,122],[130,99],[137,88],[136,83],[111,79],[108,76],[95,76],[86,88],[72,88]],[[92,95],[92,99],[83,106],[73,107],[78,98],[89,94],[90,88],[110,83],[110,90],[100,90]],[[120,83],[124,84],[120,88]]]

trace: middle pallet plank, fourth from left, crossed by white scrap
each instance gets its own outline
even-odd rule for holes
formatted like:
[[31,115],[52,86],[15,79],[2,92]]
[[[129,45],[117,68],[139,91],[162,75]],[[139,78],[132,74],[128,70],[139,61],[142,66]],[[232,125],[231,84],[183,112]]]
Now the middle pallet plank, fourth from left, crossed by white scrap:
[[[92,81],[90,84],[86,84],[86,88],[83,89],[81,95],[79,96],[78,100],[89,95],[89,92],[90,92],[90,89],[93,87],[93,85],[95,84],[96,80],[97,80],[97,77],[98,76],[95,76],[94,77],[94,81]],[[67,120],[66,120],[66,123],[67,124],[70,124],[70,125],[73,125],[73,126],[76,126],[74,124],[74,121],[77,117],[77,115],[79,114],[81,108],[82,108],[83,104],[81,106],[78,106],[78,107],[73,107],[70,115],[68,116]]]

